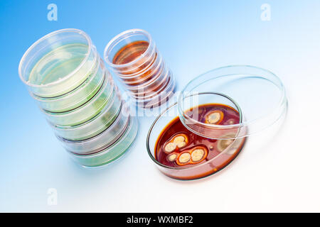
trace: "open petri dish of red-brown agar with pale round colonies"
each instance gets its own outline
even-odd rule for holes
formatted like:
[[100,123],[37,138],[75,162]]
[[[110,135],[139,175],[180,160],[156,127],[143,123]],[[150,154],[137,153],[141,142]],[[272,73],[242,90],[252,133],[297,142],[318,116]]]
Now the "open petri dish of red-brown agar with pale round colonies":
[[[198,95],[220,97],[219,103],[201,104],[186,111],[188,116],[196,116],[199,123],[230,126],[242,121],[241,110],[232,99],[218,93]],[[235,139],[237,130],[220,131],[224,140],[193,133],[177,113],[178,103],[156,118],[147,138],[151,159],[168,177],[199,179],[212,175],[234,160],[245,145],[245,138]],[[210,128],[206,130],[210,131]]]

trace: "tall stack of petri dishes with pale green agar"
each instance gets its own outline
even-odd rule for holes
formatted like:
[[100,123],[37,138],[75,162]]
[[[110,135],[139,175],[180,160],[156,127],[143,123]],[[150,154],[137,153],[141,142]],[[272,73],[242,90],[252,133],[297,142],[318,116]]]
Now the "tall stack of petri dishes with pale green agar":
[[83,31],[45,35],[23,55],[19,75],[63,147],[81,165],[117,160],[134,141],[137,120]]

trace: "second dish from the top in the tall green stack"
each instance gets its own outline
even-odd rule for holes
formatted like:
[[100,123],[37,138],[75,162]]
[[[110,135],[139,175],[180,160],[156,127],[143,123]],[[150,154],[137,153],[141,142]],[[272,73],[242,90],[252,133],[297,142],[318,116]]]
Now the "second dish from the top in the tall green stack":
[[73,91],[53,98],[43,98],[30,93],[31,96],[41,109],[52,113],[70,111],[85,104],[97,94],[105,80],[105,66],[100,57],[98,60],[100,64],[97,64],[95,71]]

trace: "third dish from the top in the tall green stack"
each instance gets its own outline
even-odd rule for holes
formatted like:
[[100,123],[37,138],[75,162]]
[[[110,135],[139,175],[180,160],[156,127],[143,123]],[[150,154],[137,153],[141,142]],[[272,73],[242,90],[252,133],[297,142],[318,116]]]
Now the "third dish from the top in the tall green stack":
[[[106,73],[108,73],[106,71]],[[116,87],[110,75],[105,76],[105,81],[100,90],[87,103],[76,109],[63,113],[50,113],[43,111],[47,120],[55,126],[77,126],[97,116],[116,96]]]

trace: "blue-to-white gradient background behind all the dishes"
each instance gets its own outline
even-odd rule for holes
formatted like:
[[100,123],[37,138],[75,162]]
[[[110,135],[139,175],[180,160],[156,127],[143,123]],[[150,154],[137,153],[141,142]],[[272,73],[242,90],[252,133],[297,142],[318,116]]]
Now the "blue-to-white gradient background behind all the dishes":
[[[58,6],[58,21],[47,20],[50,3]],[[271,21],[260,19],[264,3]],[[320,1],[1,1],[0,15],[0,211],[320,211]],[[176,182],[146,153],[154,117],[139,118],[127,157],[104,170],[82,169],[18,77],[27,48],[61,28],[88,33],[100,55],[124,30],[149,31],[178,89],[223,65],[269,69],[287,88],[285,127],[260,155],[243,153],[217,176]],[[51,187],[57,206],[47,204]],[[183,200],[197,190],[206,199]]]

